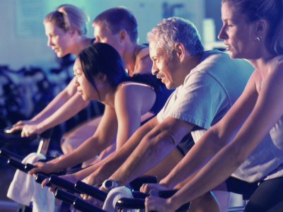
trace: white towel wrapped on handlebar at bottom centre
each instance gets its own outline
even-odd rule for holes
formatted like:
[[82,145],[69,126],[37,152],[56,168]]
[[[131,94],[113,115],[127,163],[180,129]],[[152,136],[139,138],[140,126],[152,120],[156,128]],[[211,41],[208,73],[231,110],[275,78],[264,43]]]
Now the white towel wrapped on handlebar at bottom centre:
[[[117,187],[117,188],[111,189],[104,201],[103,210],[108,211],[108,212],[115,212],[115,205],[117,201],[123,197],[133,198],[132,192],[129,188]],[[123,209],[123,211],[124,212],[135,212],[137,210],[136,209]]]

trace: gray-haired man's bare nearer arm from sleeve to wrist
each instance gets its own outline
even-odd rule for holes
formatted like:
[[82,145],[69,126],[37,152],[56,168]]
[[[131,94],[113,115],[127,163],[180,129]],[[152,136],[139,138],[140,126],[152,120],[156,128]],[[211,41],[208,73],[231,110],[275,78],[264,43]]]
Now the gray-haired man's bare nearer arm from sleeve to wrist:
[[123,185],[143,175],[144,172],[166,158],[194,126],[194,124],[182,119],[166,118],[144,136],[139,146],[134,149],[125,163],[110,176],[110,179],[115,179],[118,184]]

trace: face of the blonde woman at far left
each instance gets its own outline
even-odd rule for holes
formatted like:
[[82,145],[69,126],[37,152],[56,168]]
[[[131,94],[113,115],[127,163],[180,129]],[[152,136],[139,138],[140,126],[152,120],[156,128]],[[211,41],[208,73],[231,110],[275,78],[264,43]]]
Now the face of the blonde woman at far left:
[[44,25],[45,34],[48,37],[47,46],[52,48],[57,57],[64,57],[69,53],[74,54],[71,47],[74,36],[69,31],[64,31],[51,22],[46,22]]

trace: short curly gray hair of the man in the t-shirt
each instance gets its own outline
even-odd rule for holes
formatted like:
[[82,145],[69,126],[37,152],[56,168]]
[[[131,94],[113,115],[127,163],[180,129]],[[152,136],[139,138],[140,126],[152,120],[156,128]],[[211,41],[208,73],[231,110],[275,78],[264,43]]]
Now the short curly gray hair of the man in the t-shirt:
[[190,54],[199,54],[204,52],[204,47],[200,40],[200,34],[197,32],[195,25],[184,18],[166,18],[158,23],[149,33],[147,40],[154,42],[156,47],[166,50],[169,57],[176,42],[184,45],[185,50]]

